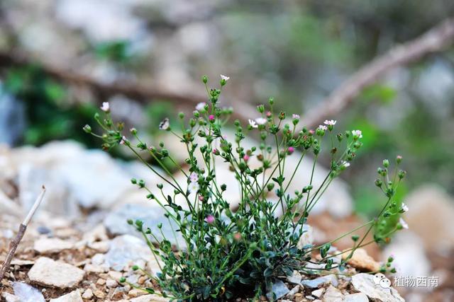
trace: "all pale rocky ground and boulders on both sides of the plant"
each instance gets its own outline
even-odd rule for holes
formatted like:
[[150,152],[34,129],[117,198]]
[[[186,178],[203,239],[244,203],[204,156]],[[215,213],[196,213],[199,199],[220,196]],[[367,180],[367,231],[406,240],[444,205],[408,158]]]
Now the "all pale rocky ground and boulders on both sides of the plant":
[[[72,142],[39,149],[0,148],[0,263],[40,186],[48,187],[11,272],[1,281],[3,301],[163,301],[118,282],[126,277],[133,284],[153,286],[131,267],[140,265],[150,274],[159,269],[126,219],[143,219],[145,225],[154,226],[162,221],[162,212],[129,184],[131,177],[156,182],[141,165],[116,161]],[[351,209],[343,183],[326,202],[340,190],[336,202]],[[372,246],[355,253],[349,269],[353,277],[333,271],[312,279],[295,272],[275,283],[276,296],[281,301],[403,301],[397,291],[377,286],[371,274],[362,273],[377,269],[374,259],[394,254],[402,276],[439,279],[436,287],[397,287],[407,301],[453,301],[453,201],[437,187],[425,187],[409,194],[406,204],[411,231],[400,233],[384,251]],[[305,240],[323,243],[360,223],[349,212],[333,209],[333,204],[324,204],[311,217],[311,236]],[[336,246],[343,250],[349,245],[347,240]]]

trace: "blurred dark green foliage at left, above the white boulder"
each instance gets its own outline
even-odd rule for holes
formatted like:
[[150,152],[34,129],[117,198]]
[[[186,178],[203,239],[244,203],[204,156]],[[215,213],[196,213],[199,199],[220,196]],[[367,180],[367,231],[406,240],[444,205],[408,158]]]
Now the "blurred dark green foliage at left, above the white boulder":
[[39,66],[9,69],[4,89],[25,105],[28,127],[21,139],[23,144],[39,146],[52,139],[75,139],[94,146],[95,140],[80,129],[92,119],[95,106],[68,103],[67,87],[44,74]]

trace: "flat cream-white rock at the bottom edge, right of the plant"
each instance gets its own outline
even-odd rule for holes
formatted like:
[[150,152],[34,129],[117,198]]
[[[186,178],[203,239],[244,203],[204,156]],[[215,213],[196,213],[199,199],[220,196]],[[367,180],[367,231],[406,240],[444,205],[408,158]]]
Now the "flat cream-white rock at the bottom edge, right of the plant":
[[374,277],[371,274],[355,274],[352,277],[353,287],[362,294],[366,294],[369,298],[379,299],[380,301],[405,301],[395,289],[392,287],[385,289],[382,286],[375,284],[373,278]]

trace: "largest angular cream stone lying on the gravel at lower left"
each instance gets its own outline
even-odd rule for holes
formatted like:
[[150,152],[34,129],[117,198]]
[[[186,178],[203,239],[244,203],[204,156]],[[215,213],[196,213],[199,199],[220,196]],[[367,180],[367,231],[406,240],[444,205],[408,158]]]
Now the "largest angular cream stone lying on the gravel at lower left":
[[43,286],[67,289],[76,286],[84,278],[82,269],[57,262],[48,257],[40,257],[28,272],[32,282]]

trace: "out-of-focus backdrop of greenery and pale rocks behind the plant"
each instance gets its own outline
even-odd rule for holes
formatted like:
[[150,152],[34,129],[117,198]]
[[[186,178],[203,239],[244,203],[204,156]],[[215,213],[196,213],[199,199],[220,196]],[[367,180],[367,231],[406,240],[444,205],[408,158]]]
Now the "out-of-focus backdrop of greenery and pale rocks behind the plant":
[[[13,162],[5,154],[26,150],[33,161],[43,148],[60,155],[70,152],[64,146],[74,150],[70,141],[99,149],[82,127],[93,124],[104,101],[155,144],[166,140],[157,125],[204,100],[204,74],[214,85],[219,74],[231,77],[221,102],[238,105],[240,117],[255,117],[249,108],[272,96],[279,109],[310,119],[305,114],[323,110],[328,95],[372,59],[453,13],[448,0],[1,1],[0,174],[20,175],[21,169],[6,172]],[[383,158],[404,156],[409,176],[398,194],[410,208],[410,231],[383,255],[402,255],[405,274],[440,278],[436,289],[402,289],[409,301],[454,300],[451,45],[387,69],[330,117],[337,129],[361,129],[364,147],[342,175],[351,211],[341,221],[314,223],[336,228],[377,214],[383,199],[373,184],[376,169]],[[2,189],[14,199],[21,188],[10,182]],[[85,211],[96,207],[86,205]]]

